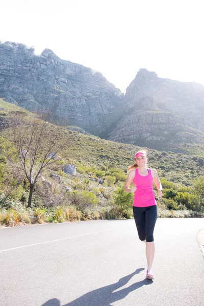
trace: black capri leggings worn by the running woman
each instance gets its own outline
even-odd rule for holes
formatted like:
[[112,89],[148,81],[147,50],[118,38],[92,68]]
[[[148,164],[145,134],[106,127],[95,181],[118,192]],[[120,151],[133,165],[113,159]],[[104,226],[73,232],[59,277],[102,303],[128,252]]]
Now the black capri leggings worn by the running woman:
[[146,242],[154,241],[154,228],[157,221],[157,205],[147,207],[133,206],[133,214],[139,239]]

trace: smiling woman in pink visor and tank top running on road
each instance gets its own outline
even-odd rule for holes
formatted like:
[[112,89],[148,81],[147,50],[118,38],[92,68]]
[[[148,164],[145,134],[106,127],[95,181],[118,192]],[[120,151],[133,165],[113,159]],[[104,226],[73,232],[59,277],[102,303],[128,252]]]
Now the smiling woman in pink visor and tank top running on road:
[[[146,244],[147,272],[146,278],[154,279],[151,266],[155,254],[154,228],[157,221],[157,202],[153,190],[153,181],[162,197],[162,185],[157,171],[147,168],[147,154],[140,150],[135,155],[135,164],[127,169],[125,192],[134,192],[133,213],[138,236]],[[134,186],[130,188],[133,181]]]

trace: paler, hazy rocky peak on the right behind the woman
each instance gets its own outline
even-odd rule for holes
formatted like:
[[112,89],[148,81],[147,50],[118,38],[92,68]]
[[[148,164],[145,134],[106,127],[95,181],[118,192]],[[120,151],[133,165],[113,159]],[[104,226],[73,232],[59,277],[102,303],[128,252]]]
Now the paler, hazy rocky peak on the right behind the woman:
[[126,112],[109,139],[157,149],[204,142],[204,86],[140,69],[124,96]]

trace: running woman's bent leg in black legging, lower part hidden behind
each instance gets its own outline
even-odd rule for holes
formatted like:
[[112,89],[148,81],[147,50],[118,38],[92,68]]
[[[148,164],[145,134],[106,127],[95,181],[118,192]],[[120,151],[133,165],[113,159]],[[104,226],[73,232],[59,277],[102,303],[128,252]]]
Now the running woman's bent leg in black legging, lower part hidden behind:
[[133,214],[135,219],[135,224],[137,226],[137,232],[139,239],[145,242],[145,214],[143,207],[133,206]]

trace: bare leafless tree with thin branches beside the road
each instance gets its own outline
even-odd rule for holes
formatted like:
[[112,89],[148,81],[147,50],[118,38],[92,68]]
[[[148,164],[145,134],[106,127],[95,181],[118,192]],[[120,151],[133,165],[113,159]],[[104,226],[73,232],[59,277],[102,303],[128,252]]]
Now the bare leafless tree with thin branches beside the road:
[[18,160],[13,165],[23,171],[29,181],[28,207],[31,207],[35,184],[58,160],[57,154],[64,148],[63,128],[17,112],[10,120],[10,132]]

